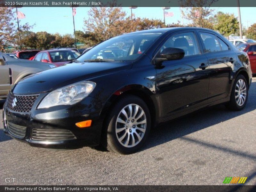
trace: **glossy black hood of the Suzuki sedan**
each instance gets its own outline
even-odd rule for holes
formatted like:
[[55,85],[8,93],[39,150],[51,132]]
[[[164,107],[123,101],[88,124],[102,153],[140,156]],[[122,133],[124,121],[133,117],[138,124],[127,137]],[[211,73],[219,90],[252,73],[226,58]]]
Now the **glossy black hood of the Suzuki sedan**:
[[[38,72],[19,81],[12,89],[14,94],[35,94],[48,92],[60,87],[89,80],[95,76],[128,70],[131,63],[85,62],[63,65]],[[97,83],[97,82],[96,82]]]

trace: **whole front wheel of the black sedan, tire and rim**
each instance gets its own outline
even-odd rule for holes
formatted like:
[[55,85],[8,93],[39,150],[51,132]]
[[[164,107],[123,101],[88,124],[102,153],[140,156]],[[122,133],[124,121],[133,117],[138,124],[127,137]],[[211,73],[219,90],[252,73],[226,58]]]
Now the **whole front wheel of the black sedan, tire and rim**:
[[147,140],[150,127],[150,112],[146,103],[137,96],[126,95],[111,108],[102,144],[111,152],[134,153]]

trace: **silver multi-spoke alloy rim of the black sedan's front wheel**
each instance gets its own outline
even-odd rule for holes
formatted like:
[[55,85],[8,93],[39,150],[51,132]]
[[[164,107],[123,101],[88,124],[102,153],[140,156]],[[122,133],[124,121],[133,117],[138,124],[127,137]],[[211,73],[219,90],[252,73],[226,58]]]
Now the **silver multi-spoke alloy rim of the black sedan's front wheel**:
[[116,119],[116,137],[124,147],[134,147],[144,137],[147,118],[144,110],[137,104],[125,106]]

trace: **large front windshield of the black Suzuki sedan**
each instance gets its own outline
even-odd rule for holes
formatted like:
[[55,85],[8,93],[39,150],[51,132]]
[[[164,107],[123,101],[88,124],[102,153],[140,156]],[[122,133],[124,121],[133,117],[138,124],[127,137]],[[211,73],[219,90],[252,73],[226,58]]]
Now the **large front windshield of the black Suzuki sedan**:
[[98,44],[77,60],[133,61],[140,57],[162,33],[134,33],[113,37]]

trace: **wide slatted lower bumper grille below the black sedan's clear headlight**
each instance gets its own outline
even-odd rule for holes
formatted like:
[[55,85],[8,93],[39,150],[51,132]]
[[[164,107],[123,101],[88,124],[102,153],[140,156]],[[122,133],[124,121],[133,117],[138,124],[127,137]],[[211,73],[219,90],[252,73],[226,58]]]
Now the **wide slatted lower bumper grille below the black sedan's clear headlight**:
[[32,129],[33,140],[62,141],[76,139],[75,135],[67,129]]

